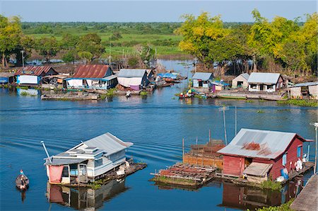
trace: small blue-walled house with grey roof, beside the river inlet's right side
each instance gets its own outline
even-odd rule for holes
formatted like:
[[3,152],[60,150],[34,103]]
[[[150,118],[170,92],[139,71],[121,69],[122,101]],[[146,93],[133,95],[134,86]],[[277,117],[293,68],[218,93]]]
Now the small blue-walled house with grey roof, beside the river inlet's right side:
[[192,77],[192,87],[196,91],[208,93],[212,90],[213,74],[210,72],[196,72]]

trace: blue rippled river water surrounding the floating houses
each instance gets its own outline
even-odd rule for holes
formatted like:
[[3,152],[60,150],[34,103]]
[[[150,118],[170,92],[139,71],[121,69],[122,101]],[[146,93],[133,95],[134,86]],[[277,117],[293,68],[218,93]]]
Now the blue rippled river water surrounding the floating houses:
[[[189,61],[160,61],[191,77]],[[41,101],[40,96],[21,96],[19,92],[0,91],[0,205],[1,210],[72,210],[96,207],[100,210],[245,210],[285,203],[298,193],[303,181],[289,183],[280,192],[255,190],[215,181],[196,191],[158,187],[148,181],[151,172],[165,169],[182,158],[182,138],[186,146],[207,142],[208,130],[214,139],[224,139],[225,111],[228,140],[237,127],[297,132],[314,139],[310,122],[317,121],[316,108],[278,105],[271,101],[199,99],[179,100],[175,93],[187,87],[187,81],[157,89],[142,98],[122,96],[105,101]],[[33,92],[37,92],[33,90]],[[264,113],[258,113],[258,110]],[[148,167],[112,181],[100,190],[75,190],[47,186],[43,159],[45,141],[49,154],[58,154],[81,141],[111,132],[134,142],[127,156],[146,162]],[[307,147],[304,147],[307,149]],[[310,146],[314,158],[314,143]],[[307,151],[307,150],[305,150]],[[24,194],[16,190],[14,180],[20,169],[30,178]]]

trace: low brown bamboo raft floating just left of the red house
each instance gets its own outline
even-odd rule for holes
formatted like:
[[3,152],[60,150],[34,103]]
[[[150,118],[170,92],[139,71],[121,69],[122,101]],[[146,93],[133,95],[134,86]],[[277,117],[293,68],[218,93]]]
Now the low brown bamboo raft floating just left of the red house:
[[175,164],[168,169],[160,170],[159,173],[151,173],[155,176],[151,181],[155,181],[158,185],[173,184],[176,186],[188,186],[192,188],[199,188],[211,181],[214,177],[213,167],[202,167],[199,165],[190,164]]

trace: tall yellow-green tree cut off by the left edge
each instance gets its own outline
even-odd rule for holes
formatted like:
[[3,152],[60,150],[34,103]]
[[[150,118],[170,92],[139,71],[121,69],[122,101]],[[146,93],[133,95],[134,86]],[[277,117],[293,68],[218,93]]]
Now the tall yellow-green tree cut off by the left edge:
[[6,67],[7,57],[11,55],[20,44],[21,35],[20,18],[16,16],[6,18],[0,15],[0,53],[2,67]]

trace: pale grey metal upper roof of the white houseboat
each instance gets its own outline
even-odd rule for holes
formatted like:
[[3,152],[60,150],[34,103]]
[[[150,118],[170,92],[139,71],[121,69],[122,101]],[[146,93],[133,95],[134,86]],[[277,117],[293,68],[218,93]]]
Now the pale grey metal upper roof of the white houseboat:
[[102,149],[107,155],[122,151],[122,149],[126,149],[133,145],[131,142],[123,142],[121,139],[110,134],[110,132],[89,139],[88,141],[83,142],[83,144],[86,144],[88,147]]

